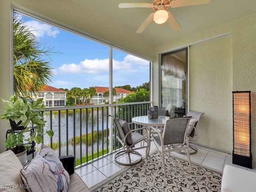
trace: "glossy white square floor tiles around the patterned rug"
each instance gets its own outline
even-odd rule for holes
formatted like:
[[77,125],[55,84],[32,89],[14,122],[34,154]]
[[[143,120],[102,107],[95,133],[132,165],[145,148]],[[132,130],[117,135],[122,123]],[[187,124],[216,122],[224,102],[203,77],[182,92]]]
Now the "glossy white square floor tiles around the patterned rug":
[[[155,150],[156,146],[151,144],[150,152]],[[141,154],[145,154],[145,149],[139,151]],[[186,155],[181,155],[176,152],[173,152],[175,156],[186,159]],[[132,158],[132,157],[131,157]],[[198,148],[198,153],[194,155],[190,155],[191,161],[196,162],[198,164],[202,164],[204,166],[208,166],[214,168],[216,170],[223,171],[223,168],[226,164],[232,164],[232,156],[229,154],[224,154],[221,152],[216,152],[213,150],[208,150],[204,148]],[[122,158],[123,160],[125,158]],[[128,159],[127,159],[128,160]],[[240,168],[244,168],[238,166]],[[104,158],[101,158],[95,162],[92,162],[86,166],[78,168],[75,172],[81,177],[81,179],[86,183],[86,185],[90,188],[95,184],[101,182],[112,174],[118,172],[124,168],[114,162],[114,154],[108,155]],[[256,165],[253,165],[253,170],[256,172]],[[244,168],[247,169],[247,168]],[[249,169],[248,169],[249,170]]]

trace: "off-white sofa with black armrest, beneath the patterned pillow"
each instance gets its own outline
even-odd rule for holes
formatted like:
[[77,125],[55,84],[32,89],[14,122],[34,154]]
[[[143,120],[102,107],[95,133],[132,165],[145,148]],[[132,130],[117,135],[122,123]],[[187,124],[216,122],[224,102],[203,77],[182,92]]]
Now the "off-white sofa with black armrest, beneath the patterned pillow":
[[[70,184],[68,186],[67,192],[90,192],[90,189],[86,186],[86,184],[84,184],[81,178],[76,173],[74,173],[74,157],[66,157],[60,158],[60,161],[62,162],[65,170],[67,170],[68,174],[70,175]],[[11,150],[0,154],[0,192],[26,192],[26,187],[24,187],[24,183],[20,174],[20,170],[22,169],[22,164]],[[30,185],[33,185],[33,183],[30,183]],[[30,190],[28,189],[28,191]],[[43,189],[42,191],[51,190]]]

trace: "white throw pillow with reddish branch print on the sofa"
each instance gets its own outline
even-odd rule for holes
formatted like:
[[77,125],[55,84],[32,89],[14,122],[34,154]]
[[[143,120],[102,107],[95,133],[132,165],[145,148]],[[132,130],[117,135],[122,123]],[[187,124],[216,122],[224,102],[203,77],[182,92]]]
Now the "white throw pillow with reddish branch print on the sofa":
[[20,174],[30,192],[66,192],[70,183],[68,172],[52,148],[42,144],[36,157]]

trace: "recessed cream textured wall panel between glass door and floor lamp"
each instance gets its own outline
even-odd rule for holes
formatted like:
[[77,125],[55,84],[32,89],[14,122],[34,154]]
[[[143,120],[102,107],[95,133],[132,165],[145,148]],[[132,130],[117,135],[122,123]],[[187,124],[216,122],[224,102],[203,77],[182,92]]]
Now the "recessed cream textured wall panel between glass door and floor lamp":
[[189,108],[205,113],[198,124],[198,142],[232,151],[232,37],[189,50]]

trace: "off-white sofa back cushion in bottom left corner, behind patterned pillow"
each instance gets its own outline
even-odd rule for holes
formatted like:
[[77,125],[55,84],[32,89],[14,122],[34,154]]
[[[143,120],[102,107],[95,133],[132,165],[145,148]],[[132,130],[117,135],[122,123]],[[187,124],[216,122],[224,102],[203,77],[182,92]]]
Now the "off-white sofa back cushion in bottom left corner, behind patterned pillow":
[[[0,154],[0,192],[26,192],[25,188],[29,186],[23,185],[20,177],[20,170],[22,168],[19,159],[11,150]],[[17,188],[17,185],[20,188]]]

